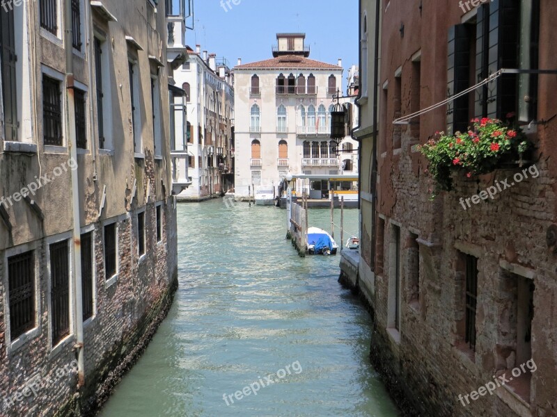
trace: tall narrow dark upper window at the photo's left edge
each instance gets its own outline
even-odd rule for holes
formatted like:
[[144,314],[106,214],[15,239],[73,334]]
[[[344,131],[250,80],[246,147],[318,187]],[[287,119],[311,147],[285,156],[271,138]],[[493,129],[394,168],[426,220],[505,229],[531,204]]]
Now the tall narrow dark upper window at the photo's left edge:
[[17,55],[15,13],[0,13],[0,76],[4,140],[17,140]]

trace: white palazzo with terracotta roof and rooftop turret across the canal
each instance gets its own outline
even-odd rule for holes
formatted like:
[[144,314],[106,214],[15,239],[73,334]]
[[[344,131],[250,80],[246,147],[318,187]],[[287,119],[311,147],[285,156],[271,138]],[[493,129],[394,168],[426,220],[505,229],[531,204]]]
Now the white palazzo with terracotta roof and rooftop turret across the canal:
[[357,142],[350,132],[340,158],[330,138],[333,96],[343,91],[342,60],[331,65],[309,59],[304,33],[276,38],[273,58],[244,65],[238,60],[234,68],[237,199],[253,193],[252,185],[276,189],[289,172],[357,175]]

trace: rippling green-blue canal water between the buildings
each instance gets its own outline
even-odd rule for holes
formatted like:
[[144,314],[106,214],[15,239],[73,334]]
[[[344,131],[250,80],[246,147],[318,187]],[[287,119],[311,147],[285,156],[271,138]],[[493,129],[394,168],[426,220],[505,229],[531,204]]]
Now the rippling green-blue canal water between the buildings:
[[[330,211],[309,223],[330,231]],[[368,359],[370,316],[337,282],[340,256],[301,259],[285,229],[274,207],[178,205],[175,302],[102,417],[399,416]]]

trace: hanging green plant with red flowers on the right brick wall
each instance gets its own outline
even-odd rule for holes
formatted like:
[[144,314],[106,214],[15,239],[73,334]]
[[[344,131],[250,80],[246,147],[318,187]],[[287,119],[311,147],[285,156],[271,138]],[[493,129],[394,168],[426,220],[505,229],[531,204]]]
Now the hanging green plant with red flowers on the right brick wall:
[[465,177],[493,172],[502,161],[519,161],[522,165],[532,143],[524,132],[501,120],[471,120],[473,127],[467,132],[448,136],[437,132],[435,139],[419,147],[429,161],[428,172],[437,182],[437,191],[453,189],[453,172]]

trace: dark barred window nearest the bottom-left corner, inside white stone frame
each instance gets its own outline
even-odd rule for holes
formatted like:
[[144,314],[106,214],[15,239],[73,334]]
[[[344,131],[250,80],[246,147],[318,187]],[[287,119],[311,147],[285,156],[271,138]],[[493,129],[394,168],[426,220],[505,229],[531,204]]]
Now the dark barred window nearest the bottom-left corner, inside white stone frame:
[[32,251],[8,258],[8,289],[10,338],[15,341],[36,326],[35,256]]

